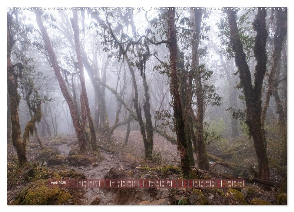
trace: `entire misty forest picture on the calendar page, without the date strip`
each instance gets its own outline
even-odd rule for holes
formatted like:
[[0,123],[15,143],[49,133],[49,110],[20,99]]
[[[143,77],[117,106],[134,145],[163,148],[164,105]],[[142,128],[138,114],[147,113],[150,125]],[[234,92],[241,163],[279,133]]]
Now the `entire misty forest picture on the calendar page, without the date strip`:
[[287,9],[7,8],[7,204],[287,204]]

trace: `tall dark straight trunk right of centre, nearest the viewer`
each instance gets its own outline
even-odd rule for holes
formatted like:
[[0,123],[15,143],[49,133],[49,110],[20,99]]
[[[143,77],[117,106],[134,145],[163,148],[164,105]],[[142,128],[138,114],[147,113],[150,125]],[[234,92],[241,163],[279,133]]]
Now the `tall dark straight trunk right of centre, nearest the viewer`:
[[170,52],[170,92],[173,95],[173,116],[175,119],[175,130],[177,134],[177,147],[180,152],[181,169],[183,176],[190,175],[190,158],[187,151],[187,141],[185,136],[185,123],[182,113],[182,105],[178,88],[177,78],[177,38],[175,29],[175,10],[168,11],[168,39]]

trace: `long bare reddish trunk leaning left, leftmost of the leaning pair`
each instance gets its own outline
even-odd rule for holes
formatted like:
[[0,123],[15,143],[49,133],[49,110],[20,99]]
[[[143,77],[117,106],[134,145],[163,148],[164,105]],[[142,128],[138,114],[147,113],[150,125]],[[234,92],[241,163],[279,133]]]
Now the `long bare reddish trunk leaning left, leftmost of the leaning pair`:
[[51,61],[51,65],[52,65],[52,67],[54,69],[55,75],[56,75],[58,83],[60,85],[61,92],[62,92],[66,102],[68,103],[68,107],[69,107],[69,110],[70,110],[70,113],[71,113],[71,118],[73,120],[74,129],[75,129],[76,135],[78,137],[78,143],[79,143],[80,151],[83,153],[83,152],[86,151],[85,136],[84,136],[84,134],[82,132],[81,125],[78,122],[78,114],[77,114],[76,108],[74,107],[74,103],[73,103],[73,101],[71,99],[71,96],[70,96],[70,94],[68,92],[66,84],[64,83],[64,80],[63,80],[62,75],[60,73],[58,62],[57,62],[55,53],[54,53],[54,51],[53,51],[53,49],[51,47],[48,33],[47,33],[46,28],[43,25],[43,22],[42,22],[42,19],[41,19],[41,12],[40,11],[36,12],[36,20],[37,20],[37,24],[38,24],[38,26],[40,28],[40,31],[41,31],[41,34],[42,34],[42,37],[43,37],[43,40],[44,40],[44,43],[45,43],[45,47],[46,47],[46,50],[48,52],[48,55],[49,55],[49,58],[50,58],[50,61]]

